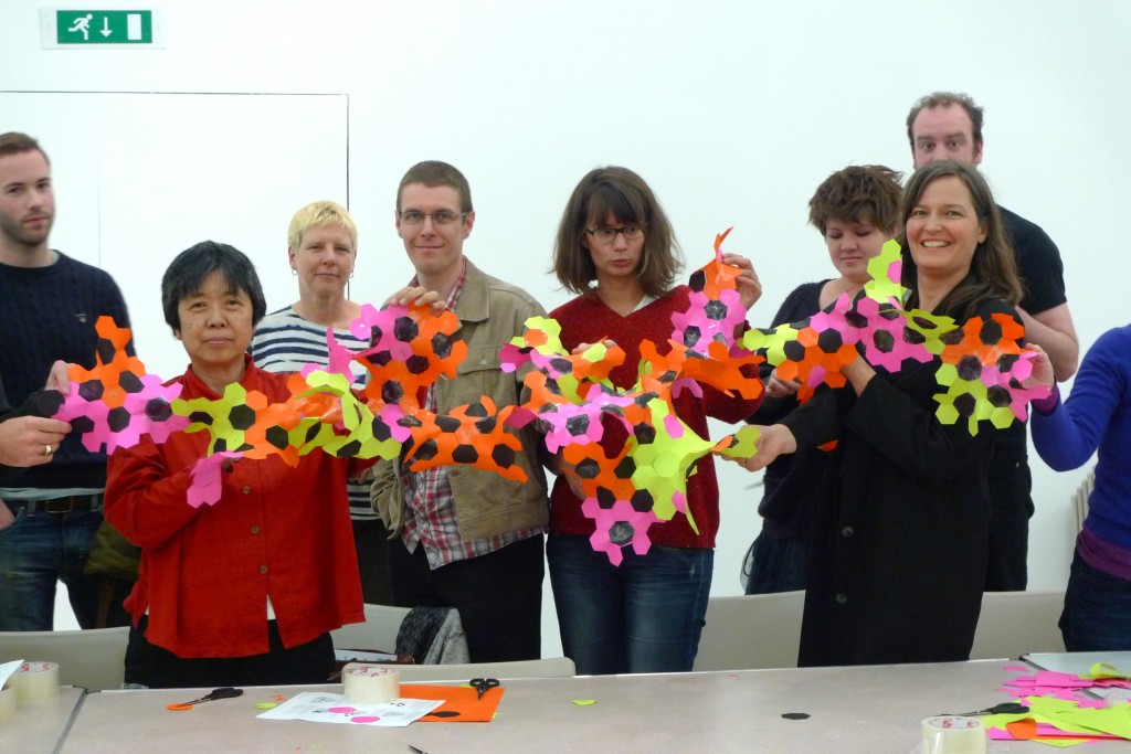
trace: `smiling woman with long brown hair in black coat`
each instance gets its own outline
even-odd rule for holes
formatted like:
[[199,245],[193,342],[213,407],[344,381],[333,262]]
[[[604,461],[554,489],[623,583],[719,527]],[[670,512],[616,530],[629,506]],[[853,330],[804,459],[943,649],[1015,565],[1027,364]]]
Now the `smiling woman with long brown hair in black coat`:
[[[934,163],[908,182],[903,208],[906,309],[991,322],[1020,297],[1013,255],[985,180]],[[991,326],[990,329],[994,329]],[[1017,335],[1018,345],[1022,343]],[[985,583],[994,430],[943,424],[941,362],[896,371],[857,358],[848,384],[821,389],[782,423],[760,427],[761,468],[780,453],[838,440],[822,480],[800,665],[965,660]]]

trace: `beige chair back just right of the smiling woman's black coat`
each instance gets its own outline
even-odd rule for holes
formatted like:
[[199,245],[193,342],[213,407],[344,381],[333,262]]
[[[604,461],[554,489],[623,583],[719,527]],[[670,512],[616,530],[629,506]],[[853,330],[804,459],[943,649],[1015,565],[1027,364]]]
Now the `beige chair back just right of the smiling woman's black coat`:
[[1063,652],[1056,623],[1063,591],[987,591],[974,632],[972,660],[1016,659],[1029,652]]

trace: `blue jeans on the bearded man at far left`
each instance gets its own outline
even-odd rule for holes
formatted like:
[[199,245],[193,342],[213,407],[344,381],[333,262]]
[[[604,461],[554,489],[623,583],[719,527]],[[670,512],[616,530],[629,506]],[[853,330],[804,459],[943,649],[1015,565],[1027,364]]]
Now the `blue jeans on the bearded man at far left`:
[[83,574],[102,513],[28,514],[16,503],[16,520],[0,529],[0,631],[51,631],[55,582],[67,584],[75,617],[93,627],[101,579]]

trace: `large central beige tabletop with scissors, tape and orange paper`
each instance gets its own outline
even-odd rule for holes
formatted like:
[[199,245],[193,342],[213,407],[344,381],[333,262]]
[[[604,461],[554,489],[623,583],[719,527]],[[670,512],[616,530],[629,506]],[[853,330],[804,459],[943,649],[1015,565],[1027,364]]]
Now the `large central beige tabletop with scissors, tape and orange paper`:
[[[504,682],[490,723],[416,722],[407,728],[257,720],[274,694],[340,686],[251,687],[191,712],[165,705],[198,690],[92,694],[62,752],[892,752],[920,742],[923,718],[1008,701],[995,690],[1022,671],[1016,660],[938,665],[737,670]],[[1007,667],[1015,669],[1007,670]],[[207,692],[208,690],[204,690]],[[575,700],[597,700],[577,705]],[[791,720],[787,712],[808,719]],[[991,742],[991,752],[1000,748]],[[1045,752],[1008,744],[1010,752]],[[1126,752],[1123,743],[1089,754]]]

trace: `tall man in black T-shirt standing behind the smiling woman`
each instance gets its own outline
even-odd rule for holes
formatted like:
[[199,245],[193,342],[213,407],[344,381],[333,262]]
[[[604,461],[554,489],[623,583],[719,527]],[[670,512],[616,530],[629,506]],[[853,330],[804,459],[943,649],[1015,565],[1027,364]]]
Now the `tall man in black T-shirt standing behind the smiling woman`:
[[[907,115],[907,138],[918,170],[940,159],[982,164],[982,109],[966,94],[935,92]],[[1001,207],[1025,293],[1018,311],[1025,337],[1048,354],[1057,380],[1076,373],[1080,350],[1064,293],[1064,266],[1048,234]],[[1024,591],[1028,582],[1031,476],[1025,424],[1015,422],[994,442],[990,467],[993,519],[986,591]]]

